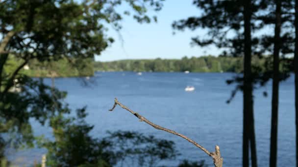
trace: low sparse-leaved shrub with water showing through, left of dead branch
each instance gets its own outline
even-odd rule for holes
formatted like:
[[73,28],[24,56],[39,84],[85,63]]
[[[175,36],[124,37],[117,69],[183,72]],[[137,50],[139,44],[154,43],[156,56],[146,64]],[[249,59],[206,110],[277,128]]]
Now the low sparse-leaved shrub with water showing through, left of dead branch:
[[108,132],[103,140],[110,143],[121,163],[126,166],[156,167],[161,160],[173,160],[178,155],[174,142],[129,131]]

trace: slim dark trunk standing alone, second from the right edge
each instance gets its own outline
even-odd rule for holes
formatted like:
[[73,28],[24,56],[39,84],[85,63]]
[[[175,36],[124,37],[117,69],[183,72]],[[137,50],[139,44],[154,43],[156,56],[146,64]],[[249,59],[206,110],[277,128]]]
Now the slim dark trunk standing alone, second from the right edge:
[[279,49],[281,28],[281,0],[275,0],[275,30],[273,51],[273,84],[272,84],[272,116],[270,141],[270,167],[276,167],[277,157],[277,125],[278,125],[278,86],[279,86]]

